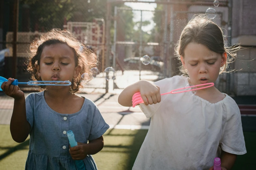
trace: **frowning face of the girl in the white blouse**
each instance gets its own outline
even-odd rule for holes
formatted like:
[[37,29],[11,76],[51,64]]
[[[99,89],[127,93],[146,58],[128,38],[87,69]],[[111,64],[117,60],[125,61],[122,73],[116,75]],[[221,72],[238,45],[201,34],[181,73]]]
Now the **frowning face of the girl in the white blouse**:
[[186,46],[181,62],[187,69],[193,85],[214,83],[219,76],[220,67],[226,63],[225,55],[225,53],[221,55],[201,44],[191,42]]

